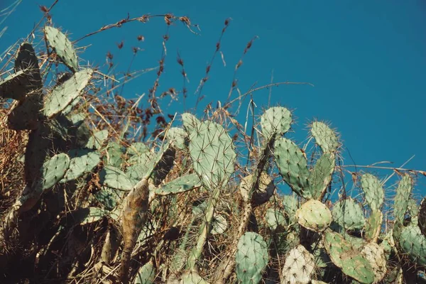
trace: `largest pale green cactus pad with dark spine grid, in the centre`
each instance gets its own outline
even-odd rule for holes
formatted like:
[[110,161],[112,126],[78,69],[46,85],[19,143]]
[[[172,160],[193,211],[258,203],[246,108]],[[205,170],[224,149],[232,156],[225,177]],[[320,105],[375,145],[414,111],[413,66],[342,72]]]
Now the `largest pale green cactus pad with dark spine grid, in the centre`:
[[189,151],[195,172],[207,188],[225,185],[234,173],[236,153],[231,137],[225,129],[213,121],[203,121],[195,126],[188,125]]

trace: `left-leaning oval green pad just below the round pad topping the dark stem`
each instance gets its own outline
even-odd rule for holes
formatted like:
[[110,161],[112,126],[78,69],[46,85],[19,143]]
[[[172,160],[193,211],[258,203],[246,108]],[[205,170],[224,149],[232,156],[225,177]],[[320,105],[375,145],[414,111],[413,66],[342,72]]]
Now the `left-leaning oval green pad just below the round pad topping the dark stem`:
[[309,190],[309,170],[305,154],[287,138],[275,141],[275,163],[283,176],[283,180],[291,189],[306,199],[312,198]]

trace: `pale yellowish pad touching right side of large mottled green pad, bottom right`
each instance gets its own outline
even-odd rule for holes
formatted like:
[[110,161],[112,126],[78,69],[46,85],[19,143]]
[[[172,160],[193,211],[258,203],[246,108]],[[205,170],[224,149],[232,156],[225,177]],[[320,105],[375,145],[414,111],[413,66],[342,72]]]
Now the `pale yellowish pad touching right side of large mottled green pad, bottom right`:
[[374,272],[374,283],[379,283],[386,275],[387,263],[383,248],[376,243],[368,243],[361,250],[361,255],[370,263]]

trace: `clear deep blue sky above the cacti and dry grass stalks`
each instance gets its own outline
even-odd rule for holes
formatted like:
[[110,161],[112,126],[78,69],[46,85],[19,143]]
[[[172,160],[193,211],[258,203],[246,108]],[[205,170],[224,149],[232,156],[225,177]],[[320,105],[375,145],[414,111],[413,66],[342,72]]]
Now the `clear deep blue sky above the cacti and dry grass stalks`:
[[[25,38],[42,16],[38,5],[50,6],[52,2],[23,0],[0,25],[0,31],[8,27],[0,39],[0,50]],[[12,3],[0,0],[0,11]],[[209,102],[216,106],[218,100],[226,100],[234,66],[246,44],[257,35],[236,75],[241,92],[253,84],[268,84],[271,72],[273,82],[315,85],[272,89],[271,104],[294,111],[295,132],[289,137],[302,143],[312,119],[329,121],[342,134],[346,165],[391,161],[393,164],[383,165],[398,167],[415,155],[406,168],[426,170],[425,1],[60,0],[51,15],[54,26],[67,31],[75,40],[125,18],[127,13],[131,18],[146,13],[173,13],[188,16],[192,23],[200,25],[200,35],[179,23],[170,28],[165,73],[160,79],[160,92],[169,87],[182,89],[182,75],[176,62],[179,51],[190,80],[187,109],[194,106],[195,89],[212,58],[224,20],[232,18],[222,39],[226,66],[220,56],[214,60],[202,92],[206,99],[198,114]],[[127,70],[131,48],[137,46],[142,51],[132,70],[140,70],[158,65],[165,32],[163,18],[153,18],[148,23],[129,23],[99,33],[80,41],[77,47],[89,45],[80,54],[86,64],[105,65],[105,55],[110,51],[114,62],[119,62],[117,70]],[[138,35],[145,40],[138,42]],[[116,43],[121,40],[124,47],[119,50]],[[155,72],[138,77],[125,87],[124,97],[148,93],[155,77]],[[257,115],[262,113],[262,107],[267,107],[268,94],[268,89],[253,93]],[[237,117],[240,123],[244,123],[248,103],[244,102]],[[168,112],[183,110],[180,101]],[[381,178],[391,173],[370,171]],[[418,178],[416,192],[425,194],[425,177]]]

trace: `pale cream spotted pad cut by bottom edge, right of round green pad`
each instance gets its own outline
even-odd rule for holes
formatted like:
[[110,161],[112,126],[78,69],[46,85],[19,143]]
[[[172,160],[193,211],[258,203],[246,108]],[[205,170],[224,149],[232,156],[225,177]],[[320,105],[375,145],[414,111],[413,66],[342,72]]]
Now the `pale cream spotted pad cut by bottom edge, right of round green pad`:
[[304,246],[298,245],[285,258],[281,283],[310,284],[315,267],[314,256]]

